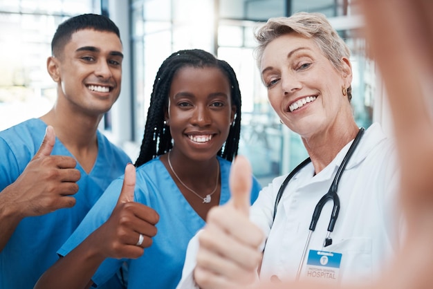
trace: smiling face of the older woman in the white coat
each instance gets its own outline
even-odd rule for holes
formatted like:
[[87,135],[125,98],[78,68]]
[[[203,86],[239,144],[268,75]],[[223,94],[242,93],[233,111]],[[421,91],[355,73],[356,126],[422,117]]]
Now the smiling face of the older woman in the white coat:
[[351,106],[342,87],[351,84],[351,66],[343,58],[337,71],[313,39],[297,33],[271,41],[261,58],[268,99],[279,118],[303,138],[345,125]]

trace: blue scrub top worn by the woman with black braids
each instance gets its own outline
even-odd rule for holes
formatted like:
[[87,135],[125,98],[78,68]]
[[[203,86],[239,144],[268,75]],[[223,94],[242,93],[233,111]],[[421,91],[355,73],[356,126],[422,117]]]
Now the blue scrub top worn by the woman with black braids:
[[[221,197],[223,205],[230,199],[228,176],[231,162],[218,158],[221,167]],[[158,212],[158,233],[151,247],[138,259],[128,259],[128,288],[176,288],[181,279],[187,244],[196,232],[205,225],[178,189],[174,180],[159,158],[136,169],[136,202],[145,204]],[[75,248],[91,232],[107,221],[116,206],[123,177],[114,180],[98,203],[84,218],[77,231],[59,250],[64,256]],[[261,187],[253,178],[251,203],[257,198]],[[93,276],[96,284],[102,284],[120,268],[125,260],[106,259]]]

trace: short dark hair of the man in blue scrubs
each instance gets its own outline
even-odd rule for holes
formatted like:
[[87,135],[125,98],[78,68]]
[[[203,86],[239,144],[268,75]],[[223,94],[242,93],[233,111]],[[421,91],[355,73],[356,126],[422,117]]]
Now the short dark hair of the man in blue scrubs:
[[57,27],[53,40],[51,41],[52,55],[56,56],[60,50],[64,48],[73,33],[83,29],[113,32],[116,33],[120,39],[118,26],[108,17],[92,13],[77,15],[62,22],[62,24]]

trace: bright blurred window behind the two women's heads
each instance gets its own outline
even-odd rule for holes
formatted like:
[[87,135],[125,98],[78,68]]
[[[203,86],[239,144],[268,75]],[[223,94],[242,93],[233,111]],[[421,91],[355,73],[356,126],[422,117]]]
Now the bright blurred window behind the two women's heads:
[[286,174],[307,154],[300,137],[279,123],[268,104],[252,50],[252,29],[269,17],[292,12],[322,12],[338,24],[351,47],[353,112],[359,126],[373,119],[374,64],[365,58],[365,41],[356,36],[360,23],[349,0],[136,0],[132,4],[135,141],[144,132],[149,97],[158,67],[170,53],[203,48],[226,60],[237,73],[242,93],[239,153],[246,155],[261,182]]

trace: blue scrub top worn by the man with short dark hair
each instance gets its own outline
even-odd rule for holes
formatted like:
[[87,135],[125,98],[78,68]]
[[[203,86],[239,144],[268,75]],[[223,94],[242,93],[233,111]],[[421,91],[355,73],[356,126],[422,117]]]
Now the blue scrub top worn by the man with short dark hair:
[[[46,124],[31,119],[0,132],[0,191],[13,183],[35,156]],[[72,156],[59,140],[52,155]],[[81,178],[74,207],[24,218],[0,252],[0,289],[33,288],[59,259],[57,250],[75,231],[111,181],[125,172],[131,159],[98,131],[98,156],[90,174],[77,164]],[[1,194],[1,193],[0,193]],[[1,232],[0,232],[1,234]]]

